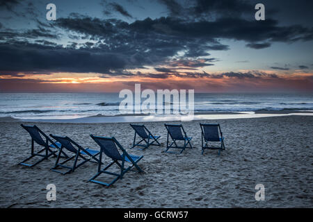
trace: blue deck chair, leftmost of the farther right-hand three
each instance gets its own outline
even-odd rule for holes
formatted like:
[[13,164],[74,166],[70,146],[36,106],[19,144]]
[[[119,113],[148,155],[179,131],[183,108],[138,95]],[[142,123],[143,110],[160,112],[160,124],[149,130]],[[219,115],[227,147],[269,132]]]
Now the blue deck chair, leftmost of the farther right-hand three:
[[[145,127],[145,125],[134,125],[134,124],[129,124],[134,130],[135,130],[135,136],[134,136],[134,143],[131,148],[134,148],[136,146],[141,146],[143,148],[138,148],[140,150],[145,150],[148,148],[150,145],[153,146],[161,146],[161,144],[158,142],[158,139],[160,136],[154,136],[150,131]],[[136,135],[141,137],[141,140],[136,143]],[[141,142],[145,142],[145,144],[141,144]],[[156,144],[154,144],[156,143]]]

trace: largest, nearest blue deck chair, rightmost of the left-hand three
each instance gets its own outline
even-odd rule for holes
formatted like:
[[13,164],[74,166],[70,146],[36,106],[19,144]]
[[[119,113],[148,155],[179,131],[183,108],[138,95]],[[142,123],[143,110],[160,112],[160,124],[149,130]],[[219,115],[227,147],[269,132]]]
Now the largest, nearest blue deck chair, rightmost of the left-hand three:
[[[104,169],[101,169],[101,164],[98,164],[98,171],[91,178],[90,182],[95,182],[99,185],[104,185],[106,187],[110,187],[113,185],[114,182],[116,182],[118,179],[122,180],[122,177],[124,176],[127,171],[130,171],[132,167],[136,167],[137,171],[139,173],[143,172],[143,170],[137,165],[137,163],[143,158],[143,155],[137,156],[137,155],[130,155],[128,154],[125,149],[120,145],[120,143],[114,138],[114,137],[96,137],[94,135],[90,135],[93,140],[100,146],[101,153],[99,156],[99,159],[102,161],[102,154],[104,153],[107,157],[111,158],[112,162],[108,164]],[[120,155],[120,152],[118,151],[118,148],[120,151],[122,151],[122,155]],[[125,168],[125,162],[128,162],[131,164],[131,166]],[[110,171],[107,171],[113,164],[117,164],[120,168],[120,173],[113,173]],[[115,176],[115,178],[109,182],[102,182],[99,180],[95,180],[98,176],[100,176],[102,173],[109,174],[111,176]]]

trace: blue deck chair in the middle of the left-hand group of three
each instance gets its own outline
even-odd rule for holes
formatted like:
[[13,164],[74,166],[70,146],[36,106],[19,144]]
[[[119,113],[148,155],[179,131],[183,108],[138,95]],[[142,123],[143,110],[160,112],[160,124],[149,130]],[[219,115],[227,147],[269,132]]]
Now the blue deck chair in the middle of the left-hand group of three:
[[[75,169],[77,169],[78,167],[81,167],[81,165],[85,164],[86,162],[88,162],[90,160],[95,160],[94,162],[97,162],[97,163],[99,162],[99,159],[97,159],[96,156],[99,155],[100,151],[95,151],[91,148],[83,148],[79,144],[74,142],[72,139],[70,139],[70,137],[60,137],[60,136],[56,136],[56,135],[52,135],[52,134],[50,134],[50,136],[52,138],[56,139],[56,141],[58,141],[62,145],[60,152],[58,153],[58,157],[56,158],[56,164],[54,164],[54,167],[51,168],[52,171],[54,171],[56,173],[62,173],[63,175],[65,175],[66,173],[74,172]],[[59,163],[60,155],[63,152],[64,148],[65,148],[65,150],[69,151],[70,153],[73,153],[73,155],[70,157],[67,157],[66,160]],[[86,158],[84,155],[88,155],[90,158]],[[83,159],[83,160],[81,160],[80,163],[78,163],[79,157],[81,159]],[[68,162],[72,159],[74,159],[74,164],[71,167],[64,165],[66,162]],[[65,172],[58,171],[58,167],[65,168],[68,170]]]

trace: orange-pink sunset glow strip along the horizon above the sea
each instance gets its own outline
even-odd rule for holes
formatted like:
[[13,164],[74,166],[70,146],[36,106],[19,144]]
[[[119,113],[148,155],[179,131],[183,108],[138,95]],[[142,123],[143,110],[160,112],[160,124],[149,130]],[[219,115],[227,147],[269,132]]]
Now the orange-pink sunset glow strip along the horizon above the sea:
[[[137,71],[140,73],[137,74]],[[286,74],[284,72],[278,74],[273,70],[261,70],[263,74],[275,74],[277,77],[259,76],[258,78],[234,78],[231,76],[223,76],[223,78],[214,78],[211,76],[204,77],[187,77],[184,71],[180,76],[168,74],[167,78],[153,78],[149,74],[160,74],[160,72],[152,69],[129,70],[134,75],[125,76],[109,76],[106,74],[95,73],[52,73],[52,74],[23,74],[16,76],[0,76],[5,79],[0,84],[4,91],[45,91],[45,86],[49,85],[50,91],[69,91],[75,92],[119,92],[121,89],[133,88],[135,83],[141,83],[143,88],[149,89],[196,89],[198,92],[229,92],[248,90],[268,91],[269,89],[296,89],[308,90],[313,89],[313,74],[294,72]],[[195,73],[199,73],[197,71]],[[253,71],[239,70],[241,73]],[[192,72],[191,72],[192,73]],[[223,74],[222,71],[214,73],[215,75]],[[211,74],[214,76],[214,74]],[[12,80],[10,82],[10,80]],[[72,85],[72,86],[71,86]]]

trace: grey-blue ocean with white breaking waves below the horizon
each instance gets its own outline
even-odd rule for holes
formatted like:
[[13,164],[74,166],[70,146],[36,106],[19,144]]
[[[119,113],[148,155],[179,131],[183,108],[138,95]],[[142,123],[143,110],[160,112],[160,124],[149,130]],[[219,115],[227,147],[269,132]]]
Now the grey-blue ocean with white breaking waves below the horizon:
[[[0,117],[75,119],[120,114],[118,93],[1,93]],[[145,99],[142,99],[144,101]],[[313,93],[195,93],[196,112],[313,110]]]

